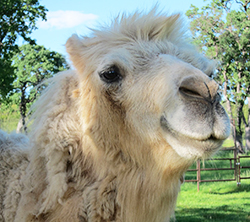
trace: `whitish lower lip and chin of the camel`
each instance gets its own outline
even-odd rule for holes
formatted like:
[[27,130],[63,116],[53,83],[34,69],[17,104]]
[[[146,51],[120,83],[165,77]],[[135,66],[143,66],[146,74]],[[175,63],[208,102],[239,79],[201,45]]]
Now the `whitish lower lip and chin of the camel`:
[[161,120],[161,126],[165,134],[168,144],[178,153],[178,155],[186,159],[208,158],[212,156],[221,147],[224,140],[215,137],[191,138],[174,131]]

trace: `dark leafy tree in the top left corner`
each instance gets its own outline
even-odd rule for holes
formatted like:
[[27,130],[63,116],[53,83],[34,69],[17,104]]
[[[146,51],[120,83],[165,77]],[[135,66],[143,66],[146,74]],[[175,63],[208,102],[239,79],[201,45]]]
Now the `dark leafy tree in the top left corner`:
[[29,34],[36,29],[38,18],[46,19],[46,11],[38,0],[0,1],[0,102],[12,89],[15,79],[11,58],[18,52],[17,38],[34,44]]

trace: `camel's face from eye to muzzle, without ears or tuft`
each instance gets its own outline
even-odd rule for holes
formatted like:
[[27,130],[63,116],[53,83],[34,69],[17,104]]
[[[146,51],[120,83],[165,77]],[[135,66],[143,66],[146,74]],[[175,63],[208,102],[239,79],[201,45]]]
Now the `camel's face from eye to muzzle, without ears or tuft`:
[[96,79],[105,99],[125,110],[135,133],[144,140],[164,138],[180,156],[209,156],[229,136],[218,84],[175,56],[118,50],[105,56]]

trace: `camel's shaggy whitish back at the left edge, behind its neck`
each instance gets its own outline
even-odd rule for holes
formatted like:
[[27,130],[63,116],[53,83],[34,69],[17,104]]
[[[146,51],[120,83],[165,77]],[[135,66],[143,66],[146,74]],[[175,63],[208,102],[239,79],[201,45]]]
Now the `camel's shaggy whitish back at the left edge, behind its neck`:
[[28,165],[28,142],[24,135],[8,135],[0,130],[0,221],[14,221],[23,188],[20,179]]

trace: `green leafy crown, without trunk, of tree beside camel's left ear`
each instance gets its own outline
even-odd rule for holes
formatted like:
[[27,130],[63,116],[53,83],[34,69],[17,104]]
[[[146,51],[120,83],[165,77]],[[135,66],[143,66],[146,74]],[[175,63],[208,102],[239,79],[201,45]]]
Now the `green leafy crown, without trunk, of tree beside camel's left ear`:
[[22,86],[37,86],[44,79],[67,68],[65,58],[60,53],[30,44],[20,47],[20,52],[13,57],[12,66],[16,76],[13,82],[15,93],[19,93]]

